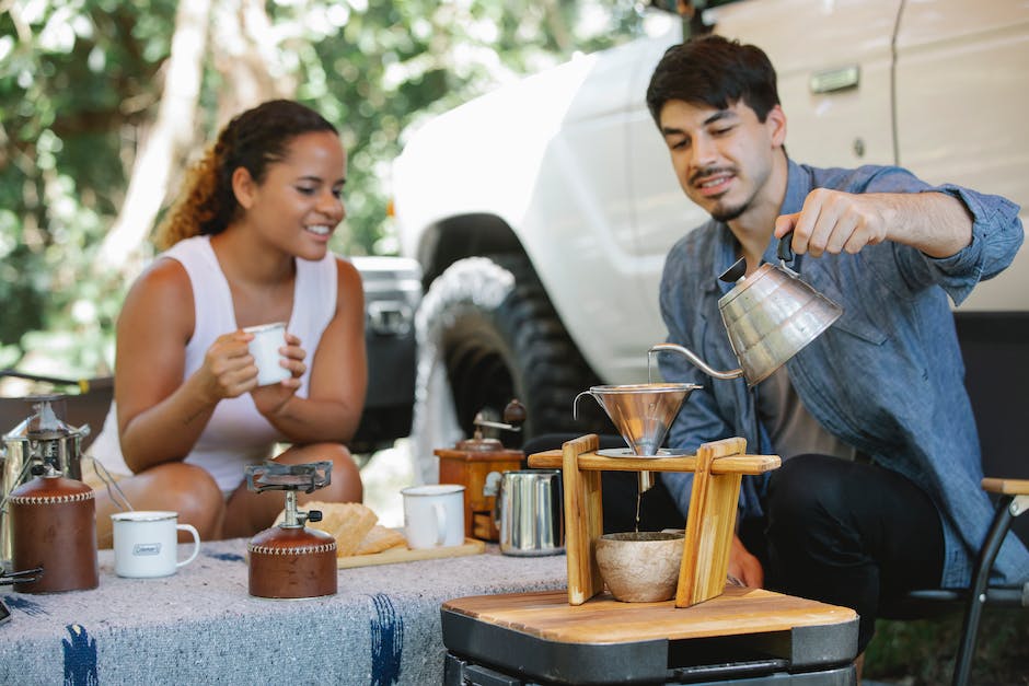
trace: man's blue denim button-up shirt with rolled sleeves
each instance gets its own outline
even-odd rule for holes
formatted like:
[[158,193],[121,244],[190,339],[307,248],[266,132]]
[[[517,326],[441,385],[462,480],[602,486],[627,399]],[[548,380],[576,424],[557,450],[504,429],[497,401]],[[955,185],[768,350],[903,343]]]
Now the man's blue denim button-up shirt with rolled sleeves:
[[[928,492],[943,513],[941,583],[967,585],[970,556],[986,536],[993,508],[980,488],[979,438],[947,297],[960,303],[980,280],[1010,264],[1022,242],[1018,206],[956,186],[930,187],[898,167],[822,170],[789,162],[781,213],[800,211],[818,187],[938,190],[959,198],[974,216],[972,243],[945,259],[892,242],[869,245],[857,255],[801,256],[794,268],[843,305],[844,314],[786,364],[801,402],[822,427]],[[776,244],[773,239],[765,261],[777,264]],[[718,275],[736,260],[737,248],[728,226],[712,220],[672,247],[661,279],[668,340],[720,370],[739,367],[718,311],[718,299],[731,288]],[[668,381],[703,386],[683,405],[670,431],[671,446],[695,451],[701,443],[740,435],[750,451],[756,446],[773,454],[742,379],[712,379],[675,353],[661,353],[660,367]],[[662,476],[686,512],[693,475]],[[742,516],[762,513],[767,478],[743,477]],[[1003,582],[1029,578],[1029,553],[1014,535],[994,570]]]

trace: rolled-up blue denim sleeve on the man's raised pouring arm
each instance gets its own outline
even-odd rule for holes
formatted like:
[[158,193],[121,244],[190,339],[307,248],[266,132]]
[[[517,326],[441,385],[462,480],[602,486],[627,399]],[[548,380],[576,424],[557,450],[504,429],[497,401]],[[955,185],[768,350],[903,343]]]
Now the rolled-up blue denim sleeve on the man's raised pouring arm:
[[[892,259],[909,291],[932,284],[943,288],[955,304],[961,304],[982,280],[1003,271],[1021,246],[1024,230],[1018,206],[1005,198],[944,184],[930,186],[900,167],[863,167],[871,170],[857,193],[944,193],[957,198],[972,216],[972,242],[955,255],[936,258],[913,247],[891,244]],[[859,171],[860,172],[860,171]],[[858,172],[857,176],[860,176]],[[869,256],[883,251],[869,251]],[[871,263],[875,265],[875,260]],[[880,277],[889,279],[893,268],[883,268]]]

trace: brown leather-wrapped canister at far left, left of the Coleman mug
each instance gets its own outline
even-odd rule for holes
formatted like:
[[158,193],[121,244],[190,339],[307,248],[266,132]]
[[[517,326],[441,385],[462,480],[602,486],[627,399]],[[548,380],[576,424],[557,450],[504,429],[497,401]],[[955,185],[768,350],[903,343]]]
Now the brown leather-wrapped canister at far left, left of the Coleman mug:
[[14,571],[42,567],[19,593],[82,591],[100,584],[96,566],[96,500],[76,479],[39,476],[18,487],[8,502]]

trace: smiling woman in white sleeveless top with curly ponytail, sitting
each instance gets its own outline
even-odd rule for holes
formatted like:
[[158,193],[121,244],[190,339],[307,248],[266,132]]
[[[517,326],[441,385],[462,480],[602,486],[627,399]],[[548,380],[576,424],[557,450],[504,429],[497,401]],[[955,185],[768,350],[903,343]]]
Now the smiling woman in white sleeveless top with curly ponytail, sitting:
[[[246,489],[244,467],[332,461],[312,498],[360,501],[344,443],[367,385],[363,293],[355,267],[328,251],[346,212],[347,158],[336,129],[294,102],[242,113],[190,171],[158,231],[165,249],[130,289],[117,325],[115,406],[93,454],[132,476],[136,509],[174,510],[201,538],[269,526],[284,497]],[[279,363],[290,377],[257,386],[242,329],[288,322]],[[97,538],[117,510],[99,491]]]

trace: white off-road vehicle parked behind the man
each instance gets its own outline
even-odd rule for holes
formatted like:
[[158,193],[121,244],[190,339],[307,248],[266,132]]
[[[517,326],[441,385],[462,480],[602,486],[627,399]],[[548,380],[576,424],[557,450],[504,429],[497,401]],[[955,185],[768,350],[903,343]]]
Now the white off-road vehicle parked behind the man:
[[[791,158],[900,164],[1029,204],[1025,2],[740,0],[704,19],[771,57]],[[395,162],[402,252],[427,287],[414,419],[426,479],[431,450],[470,434],[478,410],[517,396],[529,435],[592,429],[571,421],[577,392],[646,380],[666,335],[664,255],[706,219],[644,103],[682,22],[647,21],[647,37],[437,117]],[[1027,249],[958,315],[985,311],[1025,325]]]

